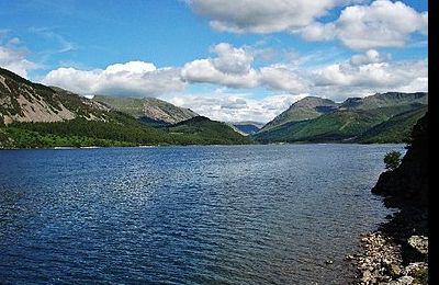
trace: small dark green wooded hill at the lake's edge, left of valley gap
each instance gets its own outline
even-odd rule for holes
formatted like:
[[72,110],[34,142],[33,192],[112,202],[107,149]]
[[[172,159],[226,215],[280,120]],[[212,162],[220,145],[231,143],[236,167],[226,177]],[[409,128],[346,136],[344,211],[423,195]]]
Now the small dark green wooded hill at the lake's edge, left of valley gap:
[[169,134],[178,137],[185,136],[200,145],[246,145],[251,139],[236,133],[226,123],[212,121],[204,116],[196,116],[176,125],[164,127]]

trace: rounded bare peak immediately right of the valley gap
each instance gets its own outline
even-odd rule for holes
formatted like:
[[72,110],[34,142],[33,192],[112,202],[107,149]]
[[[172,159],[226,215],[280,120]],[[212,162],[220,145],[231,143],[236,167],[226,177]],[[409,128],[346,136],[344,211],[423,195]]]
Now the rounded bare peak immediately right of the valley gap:
[[260,132],[267,132],[292,122],[316,118],[323,114],[334,112],[337,107],[338,104],[328,99],[307,96],[295,102],[286,111],[267,123]]

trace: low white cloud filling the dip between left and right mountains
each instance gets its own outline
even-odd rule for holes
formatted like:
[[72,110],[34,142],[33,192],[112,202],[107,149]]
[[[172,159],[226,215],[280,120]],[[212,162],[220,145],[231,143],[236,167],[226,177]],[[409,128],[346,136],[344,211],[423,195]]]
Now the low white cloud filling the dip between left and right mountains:
[[223,122],[255,121],[267,123],[306,94],[280,94],[264,99],[251,99],[250,94],[181,94],[164,98],[182,107],[190,107],[200,115]]

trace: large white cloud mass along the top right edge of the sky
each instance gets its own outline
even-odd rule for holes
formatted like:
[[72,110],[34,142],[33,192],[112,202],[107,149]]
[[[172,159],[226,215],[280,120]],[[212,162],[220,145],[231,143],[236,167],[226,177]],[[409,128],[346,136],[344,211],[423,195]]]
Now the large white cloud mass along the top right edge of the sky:
[[[230,33],[300,34],[307,41],[338,39],[352,49],[402,47],[414,33],[427,35],[428,12],[391,0],[185,0],[211,26]],[[345,8],[334,22],[320,18]]]

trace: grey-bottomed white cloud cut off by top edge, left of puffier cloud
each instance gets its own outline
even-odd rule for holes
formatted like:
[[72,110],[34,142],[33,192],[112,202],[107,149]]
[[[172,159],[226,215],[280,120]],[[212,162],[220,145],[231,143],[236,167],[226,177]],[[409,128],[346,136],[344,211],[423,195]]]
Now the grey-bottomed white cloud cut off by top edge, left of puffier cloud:
[[217,31],[274,33],[304,27],[349,0],[185,0],[191,9],[211,19]]

